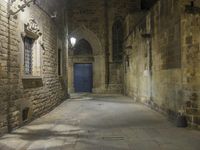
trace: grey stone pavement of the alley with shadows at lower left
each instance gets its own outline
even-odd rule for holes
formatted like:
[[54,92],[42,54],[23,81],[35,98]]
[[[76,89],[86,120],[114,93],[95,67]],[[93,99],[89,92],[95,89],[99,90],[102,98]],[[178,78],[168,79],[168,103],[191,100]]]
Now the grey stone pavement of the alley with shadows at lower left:
[[72,95],[0,138],[0,150],[199,150],[200,132],[176,128],[121,95]]

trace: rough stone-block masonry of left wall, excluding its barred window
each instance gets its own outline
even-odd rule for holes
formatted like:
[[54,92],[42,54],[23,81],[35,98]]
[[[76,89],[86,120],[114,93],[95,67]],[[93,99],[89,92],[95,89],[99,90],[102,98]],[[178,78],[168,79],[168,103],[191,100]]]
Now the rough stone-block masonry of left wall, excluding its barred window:
[[[34,18],[42,32],[41,76],[24,78],[24,24]],[[0,1],[0,134],[23,125],[22,111],[29,108],[28,121],[58,105],[67,95],[65,77],[57,73],[58,30],[50,16],[36,5],[8,19],[7,3]],[[63,37],[62,35],[59,37]],[[61,39],[62,41],[65,41]],[[66,58],[66,57],[65,57]],[[65,59],[63,59],[64,61]],[[65,61],[64,61],[65,62]],[[64,64],[64,63],[63,63]],[[65,69],[63,69],[65,70]],[[65,73],[66,74],[66,73]]]

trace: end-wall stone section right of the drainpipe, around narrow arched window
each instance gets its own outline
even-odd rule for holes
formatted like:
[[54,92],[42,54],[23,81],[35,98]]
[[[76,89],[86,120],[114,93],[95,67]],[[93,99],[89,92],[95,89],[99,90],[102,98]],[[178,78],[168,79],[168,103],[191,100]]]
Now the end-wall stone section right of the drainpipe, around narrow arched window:
[[[122,62],[115,62],[113,59],[113,25],[116,21],[121,21],[124,25],[125,17],[128,13],[137,13],[141,9],[141,0],[111,0],[108,1],[108,37],[109,37],[109,86],[108,91],[111,93],[123,93],[123,64]],[[123,31],[125,32],[125,31]],[[126,35],[123,35],[125,38]],[[123,57],[123,53],[121,54]]]

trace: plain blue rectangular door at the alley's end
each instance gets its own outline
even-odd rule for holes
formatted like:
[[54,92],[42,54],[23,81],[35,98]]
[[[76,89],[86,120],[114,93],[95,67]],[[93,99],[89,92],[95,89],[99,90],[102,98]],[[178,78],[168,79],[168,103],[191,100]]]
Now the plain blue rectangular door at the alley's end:
[[75,92],[92,92],[92,64],[74,65]]

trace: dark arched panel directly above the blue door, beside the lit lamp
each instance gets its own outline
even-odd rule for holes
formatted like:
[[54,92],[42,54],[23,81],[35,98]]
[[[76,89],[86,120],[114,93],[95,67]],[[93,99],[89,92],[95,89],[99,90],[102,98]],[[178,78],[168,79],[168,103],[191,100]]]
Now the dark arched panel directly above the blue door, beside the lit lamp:
[[88,41],[81,39],[74,46],[74,55],[92,55],[92,47]]

